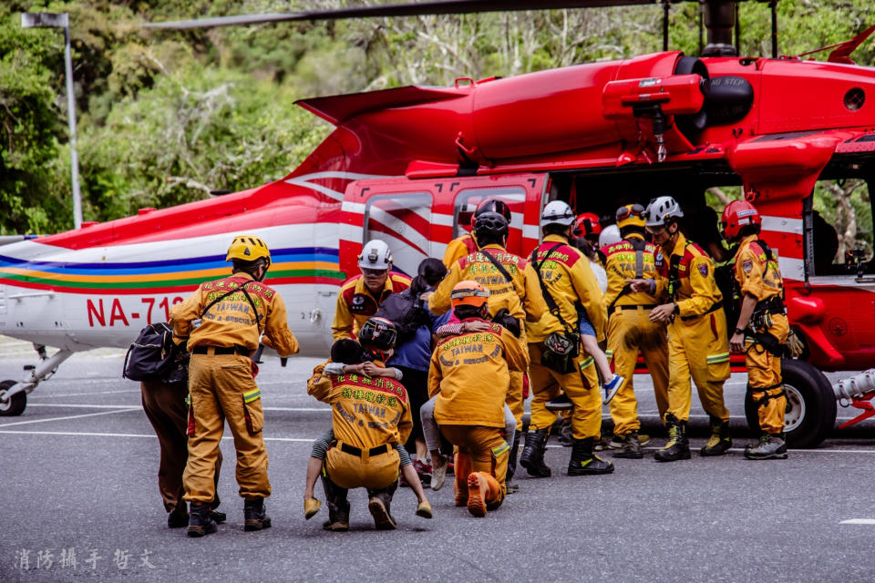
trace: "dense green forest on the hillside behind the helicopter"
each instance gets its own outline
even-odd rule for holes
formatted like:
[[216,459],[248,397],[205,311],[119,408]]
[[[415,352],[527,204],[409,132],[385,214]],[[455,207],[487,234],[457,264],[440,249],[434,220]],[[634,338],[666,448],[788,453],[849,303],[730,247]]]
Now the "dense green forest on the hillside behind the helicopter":
[[[456,77],[511,76],[662,48],[662,9],[655,5],[189,32],[139,26],[380,3],[6,0],[0,5],[0,234],[55,232],[73,223],[64,36],[59,29],[23,29],[20,12],[70,15],[85,220],[282,178],[331,130],[294,106],[301,97],[448,85]],[[768,5],[744,2],[740,13],[740,52],[768,55]],[[695,55],[698,23],[698,5],[673,5],[670,47]],[[875,24],[875,3],[781,0],[778,23],[780,53],[798,55]],[[854,58],[875,64],[872,39]],[[865,185],[827,184],[819,191],[818,210],[852,228],[849,244],[857,239],[870,246]]]

